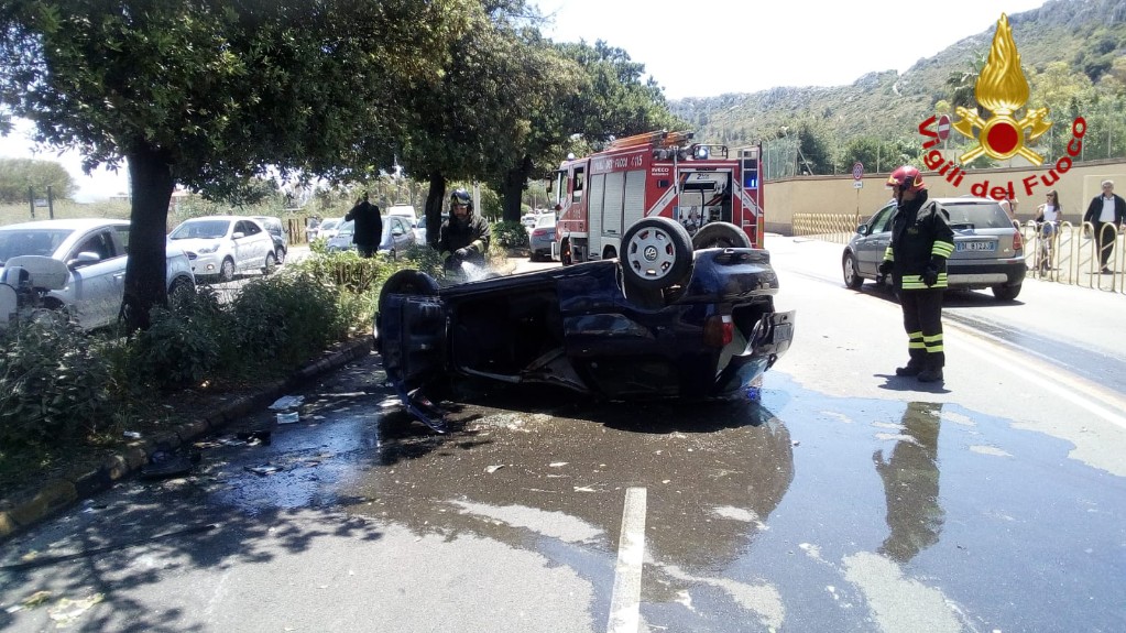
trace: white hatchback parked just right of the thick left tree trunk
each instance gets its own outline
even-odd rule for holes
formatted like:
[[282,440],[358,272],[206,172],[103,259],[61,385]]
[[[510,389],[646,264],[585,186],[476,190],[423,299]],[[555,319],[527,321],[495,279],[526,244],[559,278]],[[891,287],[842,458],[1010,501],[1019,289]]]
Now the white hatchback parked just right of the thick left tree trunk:
[[274,238],[257,220],[240,215],[207,215],[185,220],[168,234],[170,247],[182,249],[196,276],[230,282],[236,273],[277,266]]

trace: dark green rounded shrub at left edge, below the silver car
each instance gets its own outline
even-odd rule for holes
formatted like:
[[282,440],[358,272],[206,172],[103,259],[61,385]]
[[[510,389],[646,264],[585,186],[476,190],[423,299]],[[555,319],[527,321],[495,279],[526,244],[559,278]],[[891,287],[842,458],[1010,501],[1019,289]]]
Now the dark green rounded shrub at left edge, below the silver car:
[[0,347],[0,444],[68,443],[111,424],[109,360],[74,323],[14,324]]

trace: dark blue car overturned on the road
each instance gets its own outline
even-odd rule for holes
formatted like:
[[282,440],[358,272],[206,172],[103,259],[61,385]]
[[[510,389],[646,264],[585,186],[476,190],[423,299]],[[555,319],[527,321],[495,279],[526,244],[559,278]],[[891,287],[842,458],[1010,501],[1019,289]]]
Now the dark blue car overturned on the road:
[[456,376],[610,400],[741,395],[789,348],[794,313],[774,310],[769,252],[726,226],[694,244],[679,223],[646,217],[619,259],[449,287],[401,270],[375,319],[387,378],[437,430],[427,387]]

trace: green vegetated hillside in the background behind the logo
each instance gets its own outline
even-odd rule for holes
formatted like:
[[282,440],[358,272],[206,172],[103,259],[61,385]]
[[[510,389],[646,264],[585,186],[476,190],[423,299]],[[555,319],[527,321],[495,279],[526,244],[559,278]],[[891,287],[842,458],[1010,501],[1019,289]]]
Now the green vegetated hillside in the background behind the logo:
[[[1049,160],[1063,155],[1071,124],[1082,116],[1088,133],[1081,159],[1126,155],[1126,0],[1049,0],[1009,16],[1009,23],[1030,87],[1028,105],[1048,107],[1054,123],[1038,151]],[[873,71],[849,86],[771,88],[679,99],[670,107],[703,139],[731,146],[762,142],[768,152],[792,148],[794,155],[783,166],[789,169],[768,177],[842,172],[857,160],[886,170],[918,162],[921,122],[940,114],[957,119],[957,106],[976,107],[974,86],[995,28],[919,60],[902,74]],[[973,167],[989,164],[978,160]]]

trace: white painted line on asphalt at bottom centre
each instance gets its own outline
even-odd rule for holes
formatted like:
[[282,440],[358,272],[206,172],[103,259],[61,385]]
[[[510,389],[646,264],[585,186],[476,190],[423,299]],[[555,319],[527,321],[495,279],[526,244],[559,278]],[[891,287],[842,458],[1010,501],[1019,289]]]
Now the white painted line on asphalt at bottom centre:
[[614,594],[607,633],[637,633],[641,626],[641,568],[645,559],[645,489],[626,490],[622,510],[618,562],[614,567]]

